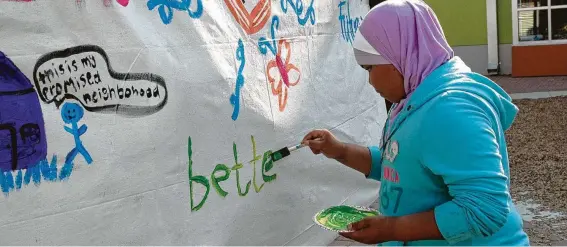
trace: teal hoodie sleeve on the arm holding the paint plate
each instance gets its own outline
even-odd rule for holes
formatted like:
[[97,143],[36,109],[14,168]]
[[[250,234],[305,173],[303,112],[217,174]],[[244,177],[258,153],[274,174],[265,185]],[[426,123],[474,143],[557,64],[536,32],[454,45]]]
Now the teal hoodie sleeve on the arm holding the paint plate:
[[434,214],[439,231],[454,245],[491,236],[506,223],[508,177],[491,108],[476,99],[444,97],[422,125],[421,162],[444,181],[452,197]]

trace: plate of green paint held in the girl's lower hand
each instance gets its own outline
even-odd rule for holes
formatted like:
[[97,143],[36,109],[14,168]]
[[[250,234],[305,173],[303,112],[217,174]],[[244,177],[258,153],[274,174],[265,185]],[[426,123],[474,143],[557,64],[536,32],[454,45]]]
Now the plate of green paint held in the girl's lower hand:
[[349,224],[378,215],[379,213],[371,208],[340,205],[321,210],[313,216],[313,221],[329,231],[349,232]]

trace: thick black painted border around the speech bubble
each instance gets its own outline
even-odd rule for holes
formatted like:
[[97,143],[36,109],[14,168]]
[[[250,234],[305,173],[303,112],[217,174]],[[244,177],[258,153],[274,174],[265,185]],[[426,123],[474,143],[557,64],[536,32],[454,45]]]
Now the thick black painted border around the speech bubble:
[[[67,58],[67,57],[71,57],[71,56],[78,55],[78,54],[85,53],[85,52],[96,52],[96,53],[100,54],[102,56],[102,58],[104,59],[105,63],[106,63],[106,66],[107,66],[107,69],[108,69],[108,74],[110,75],[110,77],[112,77],[115,80],[121,80],[121,81],[146,80],[146,81],[156,83],[159,86],[162,86],[165,89],[165,96],[163,97],[163,101],[161,103],[159,103],[157,106],[134,106],[134,105],[124,105],[124,104],[118,103],[118,104],[112,104],[112,105],[94,106],[93,107],[93,106],[86,106],[80,99],[78,99],[73,94],[63,94],[63,98],[61,100],[57,100],[57,97],[53,97],[52,100],[46,100],[43,97],[43,95],[41,94],[41,92],[39,92],[39,89],[41,87],[40,87],[40,84],[39,84],[39,80],[37,78],[38,68],[41,65],[43,65],[44,63],[46,63],[46,62],[48,62],[52,59]],[[157,74],[149,73],[149,72],[148,73],[120,73],[120,72],[116,72],[112,69],[112,65],[110,64],[110,61],[108,59],[108,55],[106,54],[104,49],[102,49],[100,46],[97,46],[97,45],[79,45],[79,46],[74,46],[74,47],[63,49],[63,50],[58,50],[58,51],[54,51],[54,52],[44,54],[35,63],[35,66],[33,68],[33,81],[34,81],[35,87],[38,91],[37,94],[39,95],[39,98],[41,99],[41,101],[43,101],[44,103],[47,103],[47,104],[55,102],[55,106],[58,109],[66,99],[74,99],[74,100],[77,100],[87,111],[90,111],[90,112],[108,112],[108,113],[118,113],[118,114],[122,114],[122,115],[144,116],[144,115],[154,114],[154,113],[160,111],[161,109],[163,109],[165,107],[165,105],[167,104],[167,99],[168,99],[167,87],[165,85],[165,80],[163,79],[163,77],[161,77],[160,75],[157,75]],[[133,83],[133,84],[135,84],[135,83]]]

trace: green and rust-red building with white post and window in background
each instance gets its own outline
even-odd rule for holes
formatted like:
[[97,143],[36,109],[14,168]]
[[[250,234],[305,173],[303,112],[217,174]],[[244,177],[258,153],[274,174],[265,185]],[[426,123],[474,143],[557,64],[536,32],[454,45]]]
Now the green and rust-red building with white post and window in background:
[[475,72],[567,75],[567,0],[424,1],[455,53]]

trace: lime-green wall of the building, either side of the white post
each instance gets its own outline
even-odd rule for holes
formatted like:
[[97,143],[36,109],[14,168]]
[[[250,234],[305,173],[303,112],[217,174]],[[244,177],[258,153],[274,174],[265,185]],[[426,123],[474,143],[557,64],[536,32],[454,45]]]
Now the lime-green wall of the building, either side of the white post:
[[[437,14],[451,46],[486,45],[485,0],[425,0]],[[512,43],[512,1],[497,0],[500,44]]]

